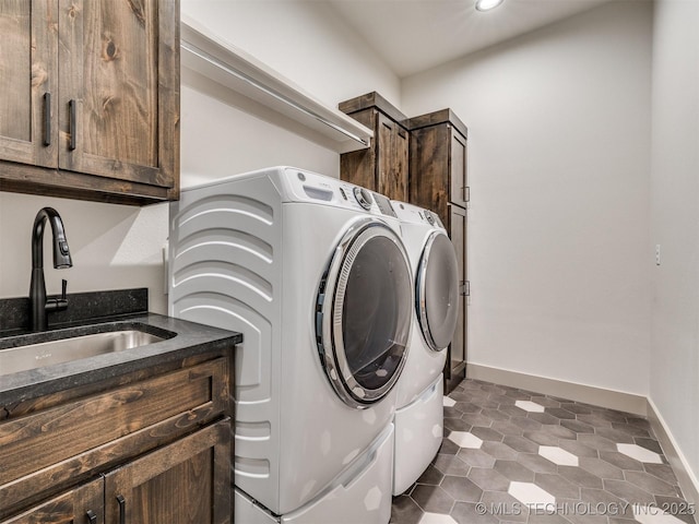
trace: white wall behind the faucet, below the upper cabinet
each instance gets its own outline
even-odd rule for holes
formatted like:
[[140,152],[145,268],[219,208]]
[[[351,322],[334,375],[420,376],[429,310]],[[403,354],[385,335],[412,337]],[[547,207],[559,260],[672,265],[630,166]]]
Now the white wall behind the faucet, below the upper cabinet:
[[[32,227],[44,206],[63,219],[73,267],[55,270],[50,227],[44,234],[46,290],[58,294],[147,287],[152,311],[167,310],[163,254],[167,205],[100,204],[0,192],[0,298],[24,297],[32,273]],[[70,306],[69,306],[70,307]]]

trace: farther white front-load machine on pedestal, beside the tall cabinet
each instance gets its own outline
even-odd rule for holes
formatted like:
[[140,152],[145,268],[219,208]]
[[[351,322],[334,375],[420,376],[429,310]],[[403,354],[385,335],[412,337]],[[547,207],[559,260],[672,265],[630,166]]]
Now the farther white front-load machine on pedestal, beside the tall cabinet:
[[415,286],[415,327],[396,386],[393,495],[400,495],[427,468],[442,441],[442,370],[459,312],[459,262],[437,214],[391,203]]

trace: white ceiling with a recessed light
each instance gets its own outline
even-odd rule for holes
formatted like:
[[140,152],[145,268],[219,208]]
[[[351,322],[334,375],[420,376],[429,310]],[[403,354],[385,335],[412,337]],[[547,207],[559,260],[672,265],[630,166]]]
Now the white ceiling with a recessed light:
[[431,69],[611,0],[327,0],[399,78]]

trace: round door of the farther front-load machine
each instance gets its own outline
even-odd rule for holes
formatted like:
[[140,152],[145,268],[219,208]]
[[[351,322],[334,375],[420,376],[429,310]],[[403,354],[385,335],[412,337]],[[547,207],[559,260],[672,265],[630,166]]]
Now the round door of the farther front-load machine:
[[425,342],[435,352],[445,349],[457,327],[459,261],[443,231],[433,233],[425,243],[415,278],[415,305]]

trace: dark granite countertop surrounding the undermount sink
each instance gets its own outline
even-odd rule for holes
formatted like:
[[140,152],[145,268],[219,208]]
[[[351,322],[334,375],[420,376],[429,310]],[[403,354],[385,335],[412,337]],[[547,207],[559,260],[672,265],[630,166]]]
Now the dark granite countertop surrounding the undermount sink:
[[133,326],[140,331],[156,335],[167,335],[167,332],[176,335],[131,349],[81,358],[27,371],[0,374],[0,406],[68,388],[90,384],[156,364],[232,348],[235,344],[242,342],[240,333],[156,313],[137,313],[118,315],[112,319],[100,318],[97,321],[74,322],[69,326],[31,335],[24,333],[0,337],[0,348],[25,344],[29,340],[27,337],[31,337],[32,342],[46,342],[68,336],[119,331],[120,327],[130,329]]

